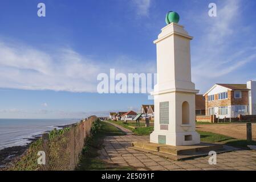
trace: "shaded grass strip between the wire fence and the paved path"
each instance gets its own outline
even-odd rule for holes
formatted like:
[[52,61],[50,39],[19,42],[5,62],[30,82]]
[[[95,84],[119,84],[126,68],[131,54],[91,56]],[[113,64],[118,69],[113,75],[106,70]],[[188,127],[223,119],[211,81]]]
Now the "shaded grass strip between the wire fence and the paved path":
[[99,155],[97,151],[103,147],[103,140],[107,136],[125,135],[123,131],[117,129],[115,126],[106,122],[100,122],[101,128],[99,133],[94,135],[87,141],[83,148],[83,155],[80,159],[79,165],[76,168],[78,171],[131,171],[135,170],[132,167],[121,167],[117,164],[109,164],[103,160],[97,159]]

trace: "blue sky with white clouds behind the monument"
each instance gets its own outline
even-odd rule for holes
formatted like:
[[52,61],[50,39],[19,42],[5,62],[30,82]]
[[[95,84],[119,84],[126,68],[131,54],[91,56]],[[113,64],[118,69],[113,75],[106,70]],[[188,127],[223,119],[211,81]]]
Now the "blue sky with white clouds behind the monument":
[[[46,5],[46,17],[37,5]],[[208,5],[217,5],[217,17]],[[84,118],[152,104],[147,94],[98,94],[96,77],[155,73],[153,40],[169,10],[194,37],[192,80],[256,80],[252,0],[8,0],[0,4],[0,118]]]

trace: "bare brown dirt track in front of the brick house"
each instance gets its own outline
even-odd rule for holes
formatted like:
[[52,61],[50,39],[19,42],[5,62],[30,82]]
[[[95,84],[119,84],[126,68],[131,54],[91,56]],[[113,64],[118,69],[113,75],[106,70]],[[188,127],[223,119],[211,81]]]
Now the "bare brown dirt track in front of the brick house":
[[[246,124],[197,125],[197,130],[209,131],[237,139],[246,139]],[[256,140],[256,123],[252,124],[253,139]]]

